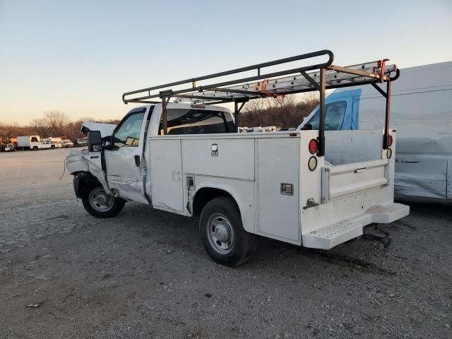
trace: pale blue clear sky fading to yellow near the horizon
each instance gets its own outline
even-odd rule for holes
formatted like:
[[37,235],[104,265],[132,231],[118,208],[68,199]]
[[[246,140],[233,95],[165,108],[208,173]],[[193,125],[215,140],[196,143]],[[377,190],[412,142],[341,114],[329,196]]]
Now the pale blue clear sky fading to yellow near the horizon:
[[451,0],[0,0],[0,123],[121,119],[124,92],[319,49],[339,66],[452,61],[451,42]]

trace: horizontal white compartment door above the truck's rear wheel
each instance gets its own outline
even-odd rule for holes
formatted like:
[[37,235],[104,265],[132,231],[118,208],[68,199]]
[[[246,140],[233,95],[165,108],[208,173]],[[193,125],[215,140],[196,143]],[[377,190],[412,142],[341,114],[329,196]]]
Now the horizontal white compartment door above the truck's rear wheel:
[[[218,155],[212,155],[217,145]],[[253,138],[182,139],[185,174],[254,180]]]

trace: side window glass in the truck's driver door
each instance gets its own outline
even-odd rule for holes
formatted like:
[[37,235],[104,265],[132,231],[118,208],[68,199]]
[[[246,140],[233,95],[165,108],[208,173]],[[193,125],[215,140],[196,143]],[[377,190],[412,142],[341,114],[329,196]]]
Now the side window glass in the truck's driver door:
[[129,117],[126,117],[126,119],[121,122],[113,135],[114,148],[121,148],[124,146],[138,147],[144,113],[144,110],[131,113]]

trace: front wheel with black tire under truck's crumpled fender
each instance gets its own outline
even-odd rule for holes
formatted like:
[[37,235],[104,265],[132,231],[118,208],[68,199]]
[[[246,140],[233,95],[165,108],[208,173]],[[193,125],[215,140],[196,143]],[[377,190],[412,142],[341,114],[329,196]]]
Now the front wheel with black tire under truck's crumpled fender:
[[113,218],[124,208],[126,201],[105,192],[101,185],[89,186],[82,196],[85,210],[96,218]]

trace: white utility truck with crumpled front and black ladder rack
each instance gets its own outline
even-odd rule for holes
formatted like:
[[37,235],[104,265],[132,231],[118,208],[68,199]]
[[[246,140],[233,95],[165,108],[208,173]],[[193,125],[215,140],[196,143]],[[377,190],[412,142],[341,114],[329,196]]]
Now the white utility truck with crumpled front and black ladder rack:
[[[111,136],[88,131],[88,150],[68,157],[76,196],[98,218],[117,215],[126,201],[200,215],[208,254],[227,266],[250,258],[256,236],[331,249],[366,225],[403,218],[408,206],[393,203],[396,131],[325,131],[325,90],[386,83],[389,98],[398,69],[385,62],[339,67],[323,50],[124,93],[125,103],[145,105]],[[249,71],[257,74],[230,80]],[[319,129],[237,133],[247,101],[312,90],[321,95]],[[213,105],[225,102],[234,115]],[[386,121],[389,108],[387,101]]]

